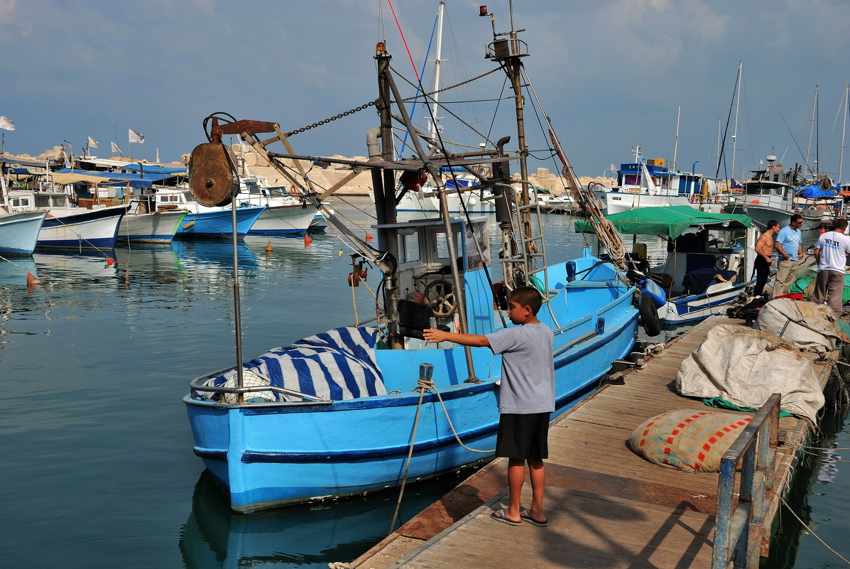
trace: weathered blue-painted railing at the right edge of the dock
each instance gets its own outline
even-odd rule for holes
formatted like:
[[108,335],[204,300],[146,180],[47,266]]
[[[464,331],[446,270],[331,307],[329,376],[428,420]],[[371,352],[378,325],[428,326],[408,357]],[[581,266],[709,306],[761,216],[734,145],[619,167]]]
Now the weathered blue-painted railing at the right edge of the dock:
[[[720,463],[717,516],[711,569],[756,569],[762,527],[774,493],[781,395],[774,393],[744,428]],[[738,504],[734,504],[736,467],[741,464]]]

